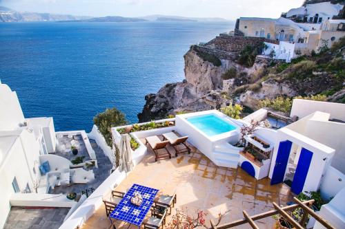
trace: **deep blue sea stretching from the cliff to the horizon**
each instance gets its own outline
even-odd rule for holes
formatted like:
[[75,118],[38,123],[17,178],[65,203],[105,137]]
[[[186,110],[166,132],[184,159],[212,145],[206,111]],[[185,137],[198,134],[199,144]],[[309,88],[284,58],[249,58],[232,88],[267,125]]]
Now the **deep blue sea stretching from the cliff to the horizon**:
[[[184,79],[184,54],[233,23],[0,23],[0,80],[24,116],[52,116],[57,131],[92,128],[117,107],[137,122],[146,94]],[[1,98],[2,99],[2,98]]]

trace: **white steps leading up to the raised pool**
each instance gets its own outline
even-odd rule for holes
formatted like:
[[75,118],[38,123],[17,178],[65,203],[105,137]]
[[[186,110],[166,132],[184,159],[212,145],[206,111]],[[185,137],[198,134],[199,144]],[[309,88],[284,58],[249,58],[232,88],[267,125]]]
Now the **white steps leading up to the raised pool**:
[[242,148],[235,147],[229,143],[217,144],[213,148],[215,164],[227,168],[237,168],[239,151],[242,151]]

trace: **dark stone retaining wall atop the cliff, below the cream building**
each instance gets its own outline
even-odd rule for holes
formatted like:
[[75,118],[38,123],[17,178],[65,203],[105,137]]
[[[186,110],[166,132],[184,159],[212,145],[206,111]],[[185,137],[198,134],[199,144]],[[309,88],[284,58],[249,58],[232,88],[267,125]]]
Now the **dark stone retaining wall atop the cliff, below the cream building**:
[[279,41],[273,41],[263,37],[230,36],[227,34],[219,34],[219,36],[217,36],[215,39],[206,43],[205,46],[216,50],[234,52],[238,54],[244,49],[244,47],[246,47],[246,45],[258,45],[262,42],[279,44]]

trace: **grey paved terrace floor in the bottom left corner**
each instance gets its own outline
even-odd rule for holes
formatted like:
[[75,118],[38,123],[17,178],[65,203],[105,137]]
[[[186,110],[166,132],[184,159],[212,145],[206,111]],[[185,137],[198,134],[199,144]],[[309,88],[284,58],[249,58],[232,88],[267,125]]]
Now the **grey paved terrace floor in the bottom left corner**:
[[70,208],[12,207],[3,229],[57,229]]

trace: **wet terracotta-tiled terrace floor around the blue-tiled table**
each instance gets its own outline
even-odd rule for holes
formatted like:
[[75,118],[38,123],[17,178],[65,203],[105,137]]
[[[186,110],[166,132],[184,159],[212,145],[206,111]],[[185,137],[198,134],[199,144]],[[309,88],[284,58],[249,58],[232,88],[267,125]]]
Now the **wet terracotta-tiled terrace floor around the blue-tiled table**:
[[[142,184],[158,188],[161,194],[172,194],[177,191],[177,205],[175,208],[188,208],[192,215],[195,210],[208,211],[209,219],[216,219],[219,212],[230,210],[222,223],[242,219],[242,210],[254,215],[267,210],[272,210],[272,202],[286,205],[292,201],[290,189],[284,184],[270,186],[270,179],[257,181],[250,177],[242,168],[221,168],[210,162],[206,156],[195,147],[190,155],[179,155],[171,160],[155,162],[152,152],[144,157],[134,171],[126,177],[117,187],[117,190],[126,191],[132,184]],[[169,148],[170,153],[174,150]],[[106,198],[105,198],[106,199]],[[174,209],[175,209],[174,208]],[[172,215],[175,210],[172,210]],[[150,213],[148,213],[150,215]],[[167,223],[170,217],[167,218]],[[274,219],[268,217],[256,221],[259,228],[272,228]],[[83,229],[108,228],[110,221],[102,205],[95,214],[86,221]],[[128,223],[117,222],[117,229],[128,228]],[[130,226],[132,228],[137,228]],[[237,228],[250,228],[244,225]]]

